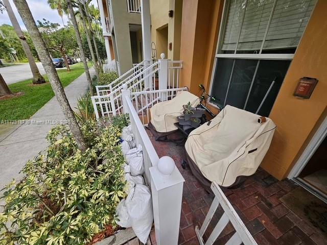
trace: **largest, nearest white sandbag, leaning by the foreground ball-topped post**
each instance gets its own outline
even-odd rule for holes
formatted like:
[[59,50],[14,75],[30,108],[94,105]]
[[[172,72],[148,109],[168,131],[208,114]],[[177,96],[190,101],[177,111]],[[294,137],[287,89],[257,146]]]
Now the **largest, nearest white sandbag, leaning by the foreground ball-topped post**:
[[135,185],[126,198],[126,207],[135,235],[141,242],[146,243],[153,223],[149,188],[145,185]]

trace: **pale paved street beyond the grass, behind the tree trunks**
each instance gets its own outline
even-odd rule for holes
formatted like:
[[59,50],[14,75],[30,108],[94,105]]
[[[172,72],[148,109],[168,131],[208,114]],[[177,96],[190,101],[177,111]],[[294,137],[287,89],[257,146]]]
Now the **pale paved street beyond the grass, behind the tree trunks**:
[[[37,67],[39,68],[39,71],[41,74],[45,74],[44,68],[41,64],[41,62],[36,63]],[[58,68],[58,69],[66,69],[64,68]],[[11,65],[6,67],[0,68],[0,74],[5,79],[5,82],[9,85],[12,83],[17,83],[19,81],[23,81],[26,79],[33,78],[32,71],[30,68],[30,65],[28,63],[22,64],[22,65]]]

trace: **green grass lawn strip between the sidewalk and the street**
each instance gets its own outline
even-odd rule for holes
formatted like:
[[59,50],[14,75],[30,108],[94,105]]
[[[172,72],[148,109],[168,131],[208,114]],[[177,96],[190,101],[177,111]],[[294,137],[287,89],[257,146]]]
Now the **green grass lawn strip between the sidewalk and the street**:
[[[71,71],[66,69],[57,70],[60,81],[65,87],[84,72],[83,63],[71,66]],[[30,118],[55,94],[51,88],[48,77],[44,75],[47,83],[33,85],[32,79],[10,84],[8,87],[13,93],[23,92],[21,96],[7,100],[0,100],[0,121],[22,120]]]

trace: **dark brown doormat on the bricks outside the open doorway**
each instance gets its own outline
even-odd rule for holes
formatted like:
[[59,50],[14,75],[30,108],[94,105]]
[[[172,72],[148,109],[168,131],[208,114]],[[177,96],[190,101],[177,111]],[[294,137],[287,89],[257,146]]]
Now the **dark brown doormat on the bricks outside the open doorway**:
[[327,204],[302,187],[295,188],[280,200],[327,238]]

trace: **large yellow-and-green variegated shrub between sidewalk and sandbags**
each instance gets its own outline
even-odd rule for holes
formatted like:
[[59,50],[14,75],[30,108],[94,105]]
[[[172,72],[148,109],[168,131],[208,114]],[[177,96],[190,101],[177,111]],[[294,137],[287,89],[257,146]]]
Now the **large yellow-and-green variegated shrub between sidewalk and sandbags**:
[[86,120],[85,152],[65,126],[53,128],[45,154],[27,162],[24,179],[5,187],[0,244],[86,244],[108,225],[114,228],[116,205],[126,197],[119,145],[123,121],[119,116],[97,128]]

